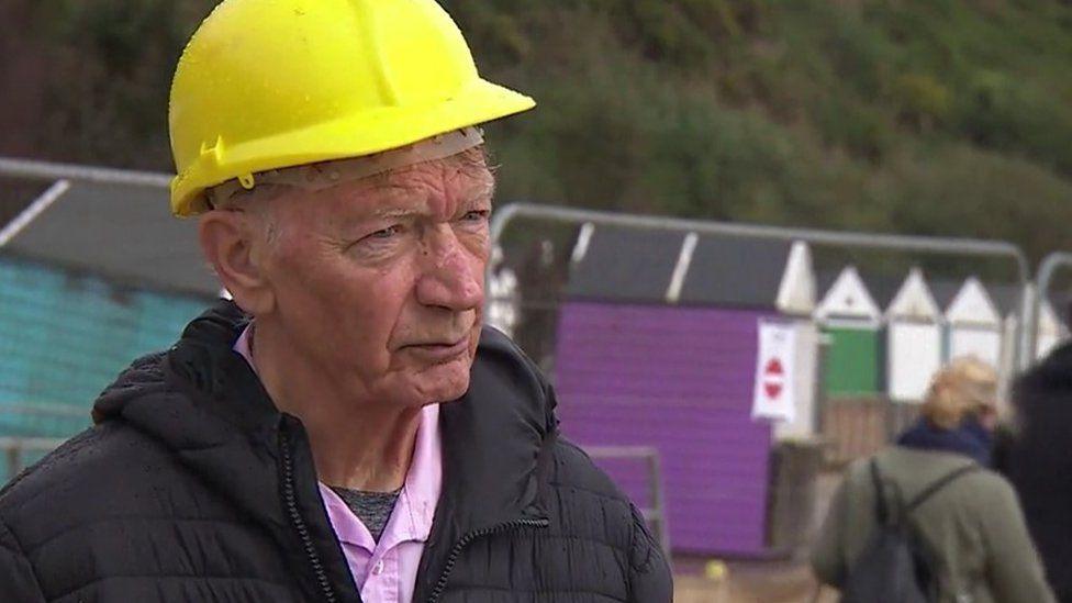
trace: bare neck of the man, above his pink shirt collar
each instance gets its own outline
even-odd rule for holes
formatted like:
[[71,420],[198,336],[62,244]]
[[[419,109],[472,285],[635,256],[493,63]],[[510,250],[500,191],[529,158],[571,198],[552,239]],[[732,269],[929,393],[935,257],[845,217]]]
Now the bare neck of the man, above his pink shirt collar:
[[421,425],[421,409],[377,404],[340,391],[295,346],[270,327],[253,332],[257,375],[276,406],[302,421],[317,479],[334,487],[392,492],[405,482]]

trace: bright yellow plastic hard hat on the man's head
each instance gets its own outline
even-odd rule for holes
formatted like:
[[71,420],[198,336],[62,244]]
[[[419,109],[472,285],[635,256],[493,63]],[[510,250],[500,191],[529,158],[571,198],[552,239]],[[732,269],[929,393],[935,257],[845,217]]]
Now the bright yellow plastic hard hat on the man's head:
[[400,148],[520,113],[434,0],[224,0],[171,85],[171,211],[259,171]]

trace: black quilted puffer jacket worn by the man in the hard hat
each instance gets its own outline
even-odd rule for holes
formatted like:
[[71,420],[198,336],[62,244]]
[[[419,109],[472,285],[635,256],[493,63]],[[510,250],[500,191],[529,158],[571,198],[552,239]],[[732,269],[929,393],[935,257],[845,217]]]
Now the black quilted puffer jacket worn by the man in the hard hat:
[[[301,423],[231,349],[243,324],[231,304],[191,323],[104,392],[93,428],[0,493],[0,601],[360,601]],[[671,600],[658,546],[557,437],[554,405],[487,331],[469,393],[440,412],[444,490],[415,602]]]

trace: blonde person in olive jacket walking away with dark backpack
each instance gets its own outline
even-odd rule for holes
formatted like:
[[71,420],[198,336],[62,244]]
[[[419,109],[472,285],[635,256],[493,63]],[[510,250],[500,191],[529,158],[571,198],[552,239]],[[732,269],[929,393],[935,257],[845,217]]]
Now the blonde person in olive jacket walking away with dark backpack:
[[[1053,594],[1012,485],[990,470],[997,375],[962,358],[934,378],[919,420],[895,446],[853,462],[834,495],[812,551],[826,584],[842,589],[859,571],[887,510],[906,511],[909,538],[924,552],[919,584],[928,601],[1047,603]],[[924,494],[927,492],[927,494]]]

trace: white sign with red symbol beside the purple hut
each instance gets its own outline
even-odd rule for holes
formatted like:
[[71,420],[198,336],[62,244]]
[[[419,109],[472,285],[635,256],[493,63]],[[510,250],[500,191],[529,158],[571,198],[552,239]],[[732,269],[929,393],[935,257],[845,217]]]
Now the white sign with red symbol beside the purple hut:
[[792,422],[796,417],[796,330],[792,323],[759,323],[752,418]]

